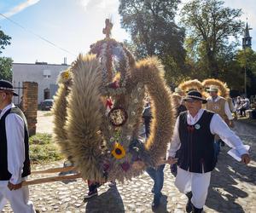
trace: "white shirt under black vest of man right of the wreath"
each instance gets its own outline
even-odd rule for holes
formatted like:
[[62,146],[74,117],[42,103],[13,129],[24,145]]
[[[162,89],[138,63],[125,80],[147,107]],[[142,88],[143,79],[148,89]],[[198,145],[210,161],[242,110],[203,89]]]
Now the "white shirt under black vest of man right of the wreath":
[[[192,115],[188,112],[187,122],[189,125],[194,125],[198,122],[198,120],[201,118],[202,113],[204,112],[204,109],[200,109],[199,112],[195,115],[193,118]],[[179,127],[179,117],[177,117],[177,121],[174,127],[173,135],[172,135],[172,142],[170,149],[168,151],[168,157],[175,157],[175,153],[180,147],[180,138],[178,133],[178,127]],[[210,123],[210,130],[212,135],[219,135],[219,137],[229,146],[229,147],[236,147],[237,151],[242,155],[244,153],[247,153],[247,150],[243,147],[243,143],[241,139],[235,135],[235,133],[230,130],[228,125],[224,122],[224,120],[217,114],[214,113],[212,116],[212,120]]]

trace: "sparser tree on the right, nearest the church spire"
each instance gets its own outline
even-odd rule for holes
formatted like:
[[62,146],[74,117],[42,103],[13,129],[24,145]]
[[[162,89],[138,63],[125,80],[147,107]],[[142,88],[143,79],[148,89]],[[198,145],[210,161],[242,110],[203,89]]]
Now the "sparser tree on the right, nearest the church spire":
[[218,78],[218,56],[230,48],[230,37],[242,32],[241,9],[225,8],[219,0],[194,0],[183,6],[181,16],[196,60],[204,60],[210,76]]

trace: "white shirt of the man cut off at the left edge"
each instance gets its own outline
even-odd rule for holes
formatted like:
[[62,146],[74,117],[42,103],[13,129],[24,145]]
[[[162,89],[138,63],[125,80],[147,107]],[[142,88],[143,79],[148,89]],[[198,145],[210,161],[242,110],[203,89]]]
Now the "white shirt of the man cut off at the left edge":
[[[0,113],[0,119],[11,107],[15,107],[15,105],[12,103],[3,108]],[[23,163],[25,161],[24,121],[19,115],[10,113],[5,118],[5,129],[7,139],[8,170],[9,173],[12,174],[9,181],[13,184],[18,184],[21,181]]]

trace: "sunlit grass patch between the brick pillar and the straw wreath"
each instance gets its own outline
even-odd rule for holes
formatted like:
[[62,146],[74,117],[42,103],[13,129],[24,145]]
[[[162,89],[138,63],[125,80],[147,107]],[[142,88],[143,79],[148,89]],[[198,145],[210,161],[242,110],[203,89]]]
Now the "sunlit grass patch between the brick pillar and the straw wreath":
[[32,164],[48,163],[63,158],[59,147],[50,134],[37,134],[29,138],[29,153]]

